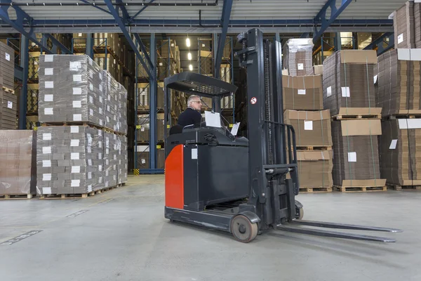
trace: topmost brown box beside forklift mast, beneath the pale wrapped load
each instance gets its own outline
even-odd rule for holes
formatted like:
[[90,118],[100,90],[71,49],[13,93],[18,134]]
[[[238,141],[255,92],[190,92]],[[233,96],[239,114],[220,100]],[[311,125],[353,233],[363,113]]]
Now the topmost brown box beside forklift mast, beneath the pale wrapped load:
[[283,75],[282,88],[284,110],[323,110],[321,75]]

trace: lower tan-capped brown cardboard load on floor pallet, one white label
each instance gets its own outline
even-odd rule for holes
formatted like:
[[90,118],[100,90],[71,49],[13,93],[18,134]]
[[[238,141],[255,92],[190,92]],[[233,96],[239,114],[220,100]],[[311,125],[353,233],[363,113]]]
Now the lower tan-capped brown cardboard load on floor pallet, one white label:
[[380,119],[332,122],[333,184],[384,186],[380,177],[377,136],[382,134]]

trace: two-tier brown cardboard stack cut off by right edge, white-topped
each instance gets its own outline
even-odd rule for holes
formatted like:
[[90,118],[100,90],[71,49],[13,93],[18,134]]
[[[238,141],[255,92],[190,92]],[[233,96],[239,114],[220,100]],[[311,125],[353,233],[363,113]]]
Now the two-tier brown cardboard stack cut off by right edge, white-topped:
[[381,176],[394,190],[421,190],[421,49],[388,51],[377,65],[377,106],[383,117]]

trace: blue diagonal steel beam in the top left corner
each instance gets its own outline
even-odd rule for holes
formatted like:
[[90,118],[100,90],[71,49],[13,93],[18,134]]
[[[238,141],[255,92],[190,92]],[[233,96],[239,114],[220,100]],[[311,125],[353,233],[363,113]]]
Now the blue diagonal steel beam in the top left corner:
[[[1,4],[11,4],[11,0],[0,0],[0,3]],[[16,20],[11,20],[9,18],[9,16],[8,16],[8,8],[9,7],[13,7],[15,9],[16,18],[17,18]],[[40,41],[36,40],[35,34],[32,32],[32,29],[29,30],[29,32],[27,32],[25,30],[25,28],[23,27],[24,22],[26,21],[30,25],[33,19],[27,13],[25,13],[21,8],[19,8],[18,6],[1,6],[0,7],[0,18],[4,22],[6,22],[8,25],[13,27],[15,30],[17,30],[21,34],[25,35],[25,37],[27,37],[27,39],[30,39],[32,42],[34,42],[35,44],[37,44],[38,46],[43,48],[46,53],[53,53],[48,48],[46,48],[46,46],[41,44]]]

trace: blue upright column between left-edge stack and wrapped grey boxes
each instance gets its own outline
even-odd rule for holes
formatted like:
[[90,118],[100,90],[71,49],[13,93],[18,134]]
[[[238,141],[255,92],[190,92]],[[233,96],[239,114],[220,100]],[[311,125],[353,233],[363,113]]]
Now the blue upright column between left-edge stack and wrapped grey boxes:
[[20,67],[23,69],[22,89],[20,89],[19,97],[19,129],[26,129],[27,115],[27,91],[28,91],[28,61],[29,61],[29,39],[22,35],[20,39]]

